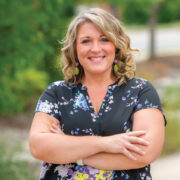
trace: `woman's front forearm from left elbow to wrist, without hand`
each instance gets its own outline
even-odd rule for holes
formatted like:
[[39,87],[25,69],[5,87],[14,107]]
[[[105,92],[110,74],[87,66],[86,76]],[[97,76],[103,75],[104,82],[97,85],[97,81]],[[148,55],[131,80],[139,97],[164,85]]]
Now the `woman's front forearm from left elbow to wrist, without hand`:
[[76,162],[103,151],[98,136],[69,136],[54,133],[32,134],[32,155],[49,163],[65,164]]

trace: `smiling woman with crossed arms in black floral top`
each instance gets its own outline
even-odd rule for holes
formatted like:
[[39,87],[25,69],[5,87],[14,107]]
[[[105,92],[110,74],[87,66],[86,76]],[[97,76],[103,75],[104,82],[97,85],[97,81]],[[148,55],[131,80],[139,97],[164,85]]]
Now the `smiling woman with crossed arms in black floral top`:
[[151,179],[164,117],[153,86],[134,78],[132,51],[119,21],[102,9],[71,22],[65,80],[41,95],[30,131],[31,153],[44,161],[41,180]]

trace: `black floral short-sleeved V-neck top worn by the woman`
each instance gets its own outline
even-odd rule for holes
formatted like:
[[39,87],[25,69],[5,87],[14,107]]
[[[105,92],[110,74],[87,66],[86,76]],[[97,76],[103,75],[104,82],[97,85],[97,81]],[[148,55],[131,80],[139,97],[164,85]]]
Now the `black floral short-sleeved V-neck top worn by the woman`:
[[[158,94],[150,82],[134,78],[118,86],[108,86],[98,115],[87,88],[65,81],[52,83],[41,95],[36,112],[47,113],[60,121],[65,134],[110,136],[132,130],[133,114],[145,108],[162,111]],[[150,165],[132,170],[106,171],[75,163],[44,162],[40,180],[151,180]]]

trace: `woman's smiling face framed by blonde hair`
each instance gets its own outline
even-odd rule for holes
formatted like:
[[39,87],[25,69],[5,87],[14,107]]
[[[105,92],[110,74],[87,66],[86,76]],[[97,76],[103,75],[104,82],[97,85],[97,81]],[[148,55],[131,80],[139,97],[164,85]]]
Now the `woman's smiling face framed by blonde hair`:
[[111,76],[115,49],[115,45],[93,23],[79,26],[76,51],[85,75]]

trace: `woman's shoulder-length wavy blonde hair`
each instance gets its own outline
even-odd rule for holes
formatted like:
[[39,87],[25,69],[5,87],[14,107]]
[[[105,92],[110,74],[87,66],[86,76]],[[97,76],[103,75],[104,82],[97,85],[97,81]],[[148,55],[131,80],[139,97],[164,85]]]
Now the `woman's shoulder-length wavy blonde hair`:
[[[76,53],[76,36],[78,27],[86,22],[92,22],[102,33],[115,44],[115,59],[118,61],[118,71],[112,75],[118,80],[118,85],[132,79],[135,76],[135,64],[133,61],[132,49],[130,47],[130,39],[125,34],[119,20],[113,15],[100,8],[90,8],[81,12],[70,23],[67,34],[63,43],[62,60],[64,63],[63,74],[65,80],[72,84],[78,84],[84,77],[83,67],[79,64],[79,74],[74,74],[74,68],[78,61]],[[113,66],[113,65],[112,65]]]

